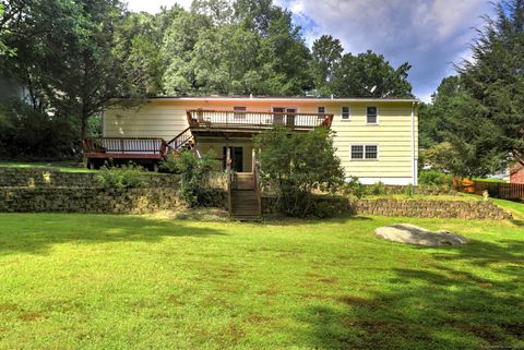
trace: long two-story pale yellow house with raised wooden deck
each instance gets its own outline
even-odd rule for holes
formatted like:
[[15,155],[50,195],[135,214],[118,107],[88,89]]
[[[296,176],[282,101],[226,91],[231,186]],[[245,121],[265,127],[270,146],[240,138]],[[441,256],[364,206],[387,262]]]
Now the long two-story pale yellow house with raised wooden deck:
[[162,137],[171,148],[190,145],[200,154],[214,149],[224,165],[229,148],[233,168],[247,172],[252,136],[273,123],[297,132],[327,125],[348,177],[417,184],[417,106],[416,99],[393,98],[151,98],[140,107],[107,108],[104,136]]

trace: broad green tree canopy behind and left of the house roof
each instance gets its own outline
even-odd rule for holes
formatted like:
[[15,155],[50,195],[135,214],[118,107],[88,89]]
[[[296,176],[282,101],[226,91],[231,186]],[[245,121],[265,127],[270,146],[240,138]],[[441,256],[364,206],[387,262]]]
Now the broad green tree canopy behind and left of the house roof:
[[310,49],[272,0],[194,0],[154,15],[121,0],[0,0],[0,76],[27,87],[34,111],[75,130],[72,149],[114,97],[410,96],[408,70],[371,51],[344,53],[332,36]]

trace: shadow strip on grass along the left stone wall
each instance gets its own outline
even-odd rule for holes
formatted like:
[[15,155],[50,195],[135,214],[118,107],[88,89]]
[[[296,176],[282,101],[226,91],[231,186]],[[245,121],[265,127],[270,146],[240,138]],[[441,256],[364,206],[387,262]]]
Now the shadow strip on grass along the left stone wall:
[[146,216],[8,214],[1,220],[0,254],[47,254],[51,245],[59,243],[155,242],[168,237],[226,234],[215,228]]

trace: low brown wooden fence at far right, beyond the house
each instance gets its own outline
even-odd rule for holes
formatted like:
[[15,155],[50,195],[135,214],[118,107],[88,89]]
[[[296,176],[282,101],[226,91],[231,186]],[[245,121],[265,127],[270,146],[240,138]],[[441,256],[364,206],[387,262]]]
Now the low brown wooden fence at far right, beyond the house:
[[455,189],[466,193],[483,195],[488,191],[490,197],[524,202],[524,183],[490,182],[463,179],[455,181]]

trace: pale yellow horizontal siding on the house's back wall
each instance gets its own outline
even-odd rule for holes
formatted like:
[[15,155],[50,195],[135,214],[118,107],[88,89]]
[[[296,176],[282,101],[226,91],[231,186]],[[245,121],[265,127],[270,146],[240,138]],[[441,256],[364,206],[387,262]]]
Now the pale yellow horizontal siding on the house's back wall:
[[[418,118],[415,110],[413,121],[415,137],[412,141],[412,101],[150,100],[140,107],[106,109],[104,135],[164,137],[169,141],[188,128],[187,109],[233,109],[234,106],[246,106],[248,110],[258,111],[271,111],[273,107],[288,107],[297,108],[299,112],[317,112],[319,106],[324,106],[326,113],[334,114],[332,130],[336,132],[336,155],[341,158],[347,176],[398,178],[404,179],[405,183],[415,183],[413,171],[414,155],[415,158],[418,155]],[[349,121],[342,120],[342,106],[349,106]],[[367,106],[378,107],[378,125],[366,124]],[[352,144],[379,145],[379,159],[350,160]],[[219,152],[222,145],[221,142],[210,143],[207,146],[202,144],[202,149],[214,146]],[[251,152],[250,149],[250,146],[247,146],[245,153]],[[250,156],[246,154],[245,167],[249,161]]]

